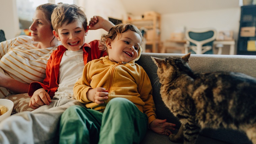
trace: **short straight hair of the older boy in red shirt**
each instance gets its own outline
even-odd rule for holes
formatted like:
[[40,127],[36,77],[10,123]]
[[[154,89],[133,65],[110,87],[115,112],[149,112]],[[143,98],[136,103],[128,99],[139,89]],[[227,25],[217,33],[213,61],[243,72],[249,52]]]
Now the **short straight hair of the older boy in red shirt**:
[[75,4],[59,4],[52,14],[52,25],[53,29],[58,32],[58,29],[61,28],[63,24],[70,24],[74,21],[79,20],[83,23],[85,31],[87,30],[87,18],[84,13]]

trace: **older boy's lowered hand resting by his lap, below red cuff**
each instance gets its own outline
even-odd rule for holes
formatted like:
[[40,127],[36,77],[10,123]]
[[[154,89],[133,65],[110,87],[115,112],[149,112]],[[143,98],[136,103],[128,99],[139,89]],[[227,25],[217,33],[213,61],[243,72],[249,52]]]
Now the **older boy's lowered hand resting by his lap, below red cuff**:
[[31,109],[37,109],[39,106],[42,106],[45,104],[49,105],[50,102],[52,101],[49,94],[43,88],[40,88],[33,93],[29,101],[29,107]]

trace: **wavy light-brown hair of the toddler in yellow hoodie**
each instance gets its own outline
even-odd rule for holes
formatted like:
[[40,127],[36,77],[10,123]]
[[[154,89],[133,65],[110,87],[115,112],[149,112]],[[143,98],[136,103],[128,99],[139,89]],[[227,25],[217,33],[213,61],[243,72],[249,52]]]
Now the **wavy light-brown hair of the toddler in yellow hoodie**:
[[[100,43],[99,43],[99,49],[101,51],[106,51],[107,52],[107,47],[106,47],[106,40],[109,38],[111,41],[113,41],[119,34],[126,32],[127,30],[134,31],[140,35],[140,38],[142,40],[142,34],[140,30],[133,24],[118,24],[112,28],[110,28],[108,34],[102,34]],[[142,41],[141,41],[142,43]],[[140,43],[140,44],[141,44]]]

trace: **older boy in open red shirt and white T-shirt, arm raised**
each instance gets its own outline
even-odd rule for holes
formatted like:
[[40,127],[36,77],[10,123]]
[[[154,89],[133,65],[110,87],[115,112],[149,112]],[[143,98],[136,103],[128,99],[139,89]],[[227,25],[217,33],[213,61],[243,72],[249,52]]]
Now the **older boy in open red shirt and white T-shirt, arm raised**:
[[[98,20],[95,27],[108,30],[114,26],[102,17],[94,17],[93,21],[95,19]],[[75,5],[61,4],[56,7],[52,15],[54,35],[63,46],[52,53],[43,83],[30,84],[29,94],[32,97],[29,104],[37,110],[18,113],[2,121],[0,143],[58,141],[61,114],[71,105],[81,105],[73,97],[74,82],[81,76],[87,62],[105,55],[98,50],[98,41],[85,44],[86,21],[83,11]]]

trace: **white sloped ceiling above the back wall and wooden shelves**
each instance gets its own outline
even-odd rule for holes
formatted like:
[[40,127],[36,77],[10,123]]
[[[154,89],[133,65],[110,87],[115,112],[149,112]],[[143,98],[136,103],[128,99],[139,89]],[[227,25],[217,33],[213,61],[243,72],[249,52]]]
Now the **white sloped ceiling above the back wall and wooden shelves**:
[[120,0],[127,13],[134,16],[145,11],[156,11],[160,14],[189,11],[238,8],[239,0]]

